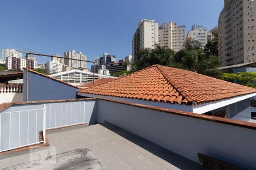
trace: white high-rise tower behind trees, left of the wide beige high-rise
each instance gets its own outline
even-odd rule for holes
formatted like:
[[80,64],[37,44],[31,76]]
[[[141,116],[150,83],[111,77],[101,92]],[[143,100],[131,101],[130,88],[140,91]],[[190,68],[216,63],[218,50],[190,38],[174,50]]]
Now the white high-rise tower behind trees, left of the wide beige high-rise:
[[154,20],[142,19],[133,36],[133,57],[144,48],[154,48],[158,44],[158,23]]

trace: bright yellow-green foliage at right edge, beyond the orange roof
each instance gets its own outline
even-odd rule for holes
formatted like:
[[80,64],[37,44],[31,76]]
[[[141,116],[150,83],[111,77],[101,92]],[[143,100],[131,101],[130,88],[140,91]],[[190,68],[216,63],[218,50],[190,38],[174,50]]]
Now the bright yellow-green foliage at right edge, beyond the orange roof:
[[256,73],[222,73],[221,79],[256,88]]

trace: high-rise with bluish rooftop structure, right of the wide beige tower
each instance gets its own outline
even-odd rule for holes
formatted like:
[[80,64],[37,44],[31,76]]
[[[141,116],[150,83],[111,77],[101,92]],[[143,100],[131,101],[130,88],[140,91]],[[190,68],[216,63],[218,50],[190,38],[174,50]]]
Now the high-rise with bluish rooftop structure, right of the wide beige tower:
[[188,39],[199,41],[201,48],[207,44],[208,32],[202,25],[192,25],[191,30],[188,32]]

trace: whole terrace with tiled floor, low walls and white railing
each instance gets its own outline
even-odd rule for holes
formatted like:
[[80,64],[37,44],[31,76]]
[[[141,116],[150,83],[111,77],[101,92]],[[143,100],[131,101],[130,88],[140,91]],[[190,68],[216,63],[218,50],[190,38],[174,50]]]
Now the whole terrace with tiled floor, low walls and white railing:
[[198,169],[198,153],[256,167],[250,122],[109,99],[0,106],[1,168],[77,148],[88,148],[105,169]]

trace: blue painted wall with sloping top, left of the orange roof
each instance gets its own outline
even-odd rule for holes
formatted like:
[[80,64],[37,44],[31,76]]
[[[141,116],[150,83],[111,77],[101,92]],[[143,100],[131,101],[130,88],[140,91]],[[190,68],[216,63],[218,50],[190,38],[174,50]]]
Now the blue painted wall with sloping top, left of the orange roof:
[[[23,70],[23,101],[26,101],[26,70]],[[28,100],[75,99],[78,88],[28,71]]]

